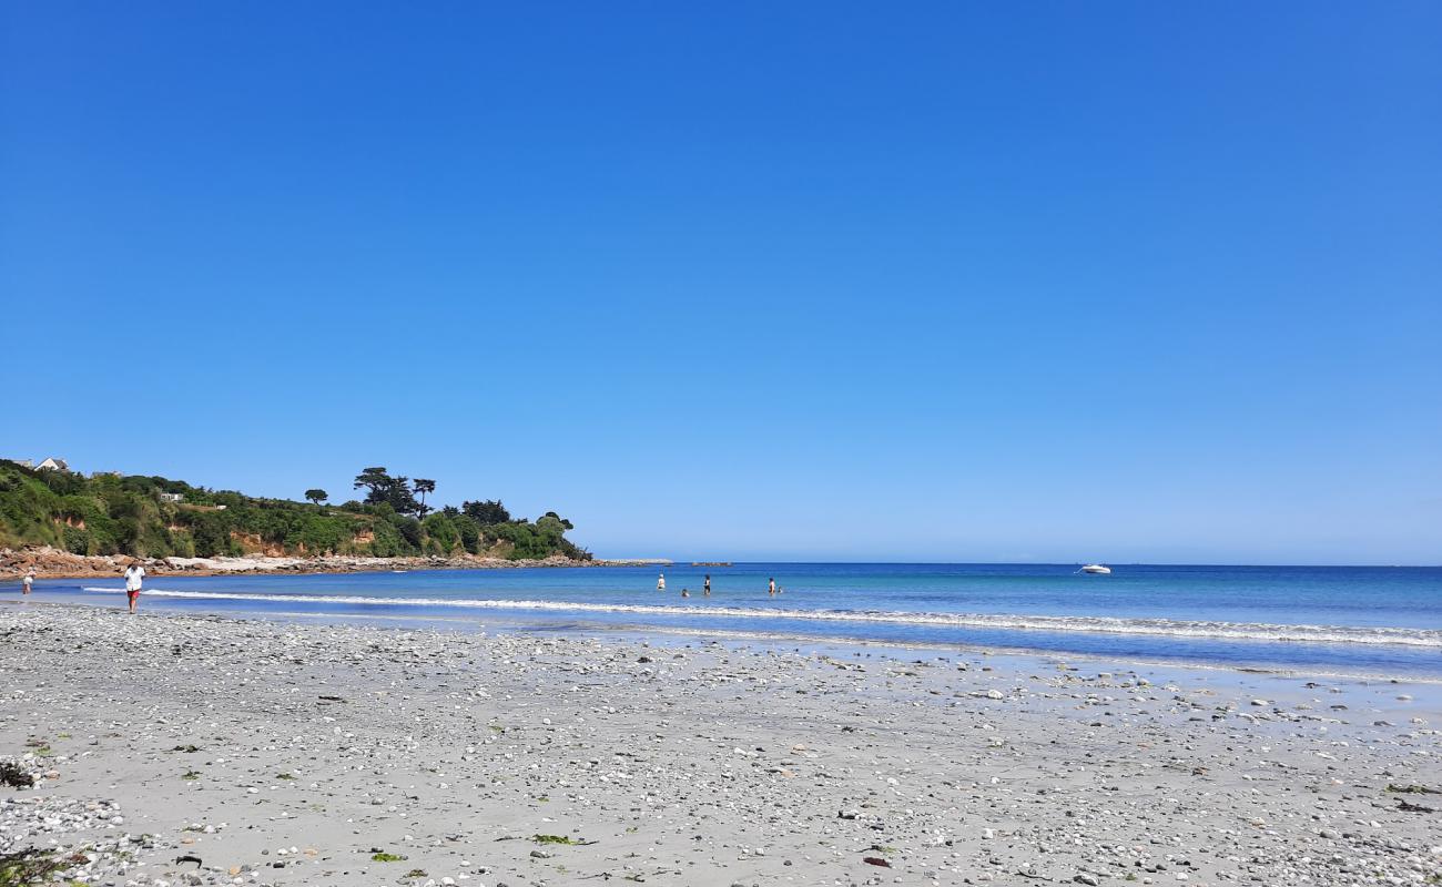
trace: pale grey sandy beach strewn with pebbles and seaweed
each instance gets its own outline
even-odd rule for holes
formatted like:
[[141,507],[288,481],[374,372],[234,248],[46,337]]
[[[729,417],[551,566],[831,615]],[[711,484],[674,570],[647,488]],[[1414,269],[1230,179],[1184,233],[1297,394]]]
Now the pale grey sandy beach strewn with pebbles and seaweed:
[[0,643],[0,854],[59,883],[1442,878],[1425,685],[33,603]]

